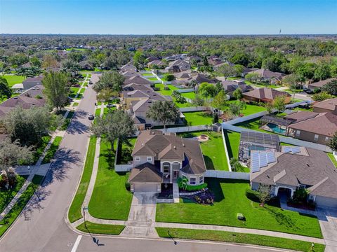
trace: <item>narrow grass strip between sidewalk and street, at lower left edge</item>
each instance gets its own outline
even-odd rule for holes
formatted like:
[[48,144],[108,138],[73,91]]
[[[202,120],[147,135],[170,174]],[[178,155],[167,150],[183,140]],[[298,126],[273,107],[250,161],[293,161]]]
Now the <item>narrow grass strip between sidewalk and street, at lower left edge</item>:
[[13,206],[11,211],[0,221],[0,237],[4,235],[4,232],[12,225],[16,218],[18,218],[22,209],[26,206],[27,202],[33,196],[34,191],[37,189],[41,181],[44,179],[44,176],[35,175],[32,179],[32,183],[29,184],[24,193],[22,193],[18,202]]

